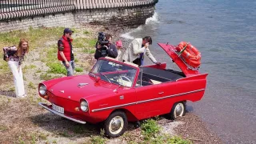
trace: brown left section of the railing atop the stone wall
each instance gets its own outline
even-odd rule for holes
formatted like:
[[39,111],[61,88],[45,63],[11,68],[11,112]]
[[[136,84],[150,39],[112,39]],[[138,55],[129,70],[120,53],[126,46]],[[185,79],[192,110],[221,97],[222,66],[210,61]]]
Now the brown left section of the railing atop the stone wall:
[[74,0],[0,0],[0,21],[72,10]]

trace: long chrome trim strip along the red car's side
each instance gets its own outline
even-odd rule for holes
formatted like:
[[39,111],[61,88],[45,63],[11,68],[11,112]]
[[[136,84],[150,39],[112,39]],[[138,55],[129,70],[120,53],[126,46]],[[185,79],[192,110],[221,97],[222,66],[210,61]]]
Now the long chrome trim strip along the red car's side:
[[166,96],[166,97],[162,97],[162,98],[148,99],[148,100],[145,100],[145,101],[130,102],[130,103],[126,103],[126,104],[122,104],[122,105],[118,105],[118,106],[104,107],[104,108],[101,108],[101,109],[94,109],[94,110],[91,110],[91,111],[92,111],[92,112],[97,112],[97,111],[108,110],[108,109],[112,109],[112,108],[118,108],[118,107],[122,107],[122,106],[137,105],[137,104],[144,103],[144,102],[158,101],[158,100],[161,100],[161,99],[166,99],[166,98],[171,98],[171,97],[177,97],[177,96],[181,96],[181,95],[184,95],[184,94],[196,93],[196,92],[202,91],[202,90],[205,90],[205,89],[193,90],[193,91],[189,91],[189,92],[186,92],[186,93],[173,94],[173,95]]

